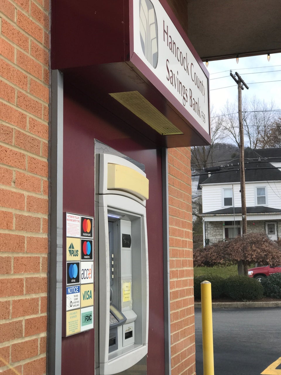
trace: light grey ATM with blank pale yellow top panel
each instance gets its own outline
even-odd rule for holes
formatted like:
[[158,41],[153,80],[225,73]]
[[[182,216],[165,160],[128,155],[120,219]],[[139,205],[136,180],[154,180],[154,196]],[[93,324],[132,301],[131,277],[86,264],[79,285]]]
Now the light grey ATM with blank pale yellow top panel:
[[96,374],[109,375],[147,354],[148,179],[120,156],[96,162]]

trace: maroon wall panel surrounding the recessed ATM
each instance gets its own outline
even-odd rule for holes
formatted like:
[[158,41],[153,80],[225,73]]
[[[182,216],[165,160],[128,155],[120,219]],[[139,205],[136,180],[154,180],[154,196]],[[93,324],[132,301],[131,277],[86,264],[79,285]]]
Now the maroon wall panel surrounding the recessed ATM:
[[[94,216],[94,139],[145,165],[149,258],[147,374],[164,374],[163,220],[161,150],[74,87],[64,87],[63,210]],[[94,330],[62,339],[62,374],[92,375]]]

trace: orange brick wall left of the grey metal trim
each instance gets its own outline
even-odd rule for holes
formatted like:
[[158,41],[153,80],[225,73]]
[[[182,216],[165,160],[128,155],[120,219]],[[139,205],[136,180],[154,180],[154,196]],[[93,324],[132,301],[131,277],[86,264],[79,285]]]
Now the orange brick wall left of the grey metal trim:
[[46,372],[49,1],[0,0],[0,373]]

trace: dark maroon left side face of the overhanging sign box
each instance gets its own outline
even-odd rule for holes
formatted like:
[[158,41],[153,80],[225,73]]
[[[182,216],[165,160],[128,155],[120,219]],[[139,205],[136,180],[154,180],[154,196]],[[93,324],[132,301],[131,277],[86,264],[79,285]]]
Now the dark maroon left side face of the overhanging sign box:
[[[128,0],[52,0],[51,67],[63,69],[129,58]],[[126,18],[125,18],[126,17]]]

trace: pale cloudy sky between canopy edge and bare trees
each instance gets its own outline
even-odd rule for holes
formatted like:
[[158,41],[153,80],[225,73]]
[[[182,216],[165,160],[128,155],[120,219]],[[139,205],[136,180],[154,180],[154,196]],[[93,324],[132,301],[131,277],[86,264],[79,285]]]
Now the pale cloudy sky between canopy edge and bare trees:
[[[249,90],[242,91],[242,98],[256,96],[261,101],[275,102],[275,108],[281,110],[281,53],[241,57],[239,63],[235,58],[220,61],[210,61],[210,103],[216,112],[220,112],[226,101],[237,102],[238,89],[235,81],[230,77],[238,72],[249,86]],[[230,86],[230,87],[229,87]]]

